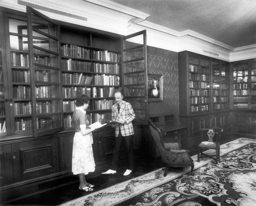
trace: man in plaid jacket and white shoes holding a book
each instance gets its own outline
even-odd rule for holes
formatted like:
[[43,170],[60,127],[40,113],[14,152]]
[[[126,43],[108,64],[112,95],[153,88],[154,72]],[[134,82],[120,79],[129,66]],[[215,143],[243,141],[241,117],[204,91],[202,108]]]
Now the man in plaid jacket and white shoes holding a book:
[[123,141],[128,151],[128,169],[124,176],[131,174],[134,169],[133,147],[132,139],[134,137],[134,130],[132,120],[135,118],[134,111],[130,103],[123,100],[124,95],[122,91],[116,91],[114,94],[116,104],[112,106],[112,121],[119,121],[120,124],[114,124],[115,127],[115,146],[113,150],[112,161],[110,169],[102,174],[115,174],[117,169],[117,162],[119,159],[120,149]]

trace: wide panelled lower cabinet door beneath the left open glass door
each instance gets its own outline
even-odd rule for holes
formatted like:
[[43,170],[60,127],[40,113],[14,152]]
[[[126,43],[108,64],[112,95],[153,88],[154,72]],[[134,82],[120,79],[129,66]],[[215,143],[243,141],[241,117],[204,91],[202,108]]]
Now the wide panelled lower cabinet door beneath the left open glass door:
[[59,171],[57,138],[13,143],[12,156],[15,182]]

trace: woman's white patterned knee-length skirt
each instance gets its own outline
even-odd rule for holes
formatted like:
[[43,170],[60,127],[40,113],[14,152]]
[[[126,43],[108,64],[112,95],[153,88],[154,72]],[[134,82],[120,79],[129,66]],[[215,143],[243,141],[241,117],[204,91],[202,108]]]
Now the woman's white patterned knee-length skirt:
[[76,132],[73,140],[72,172],[73,174],[88,174],[95,171],[92,152],[92,133],[82,135]]

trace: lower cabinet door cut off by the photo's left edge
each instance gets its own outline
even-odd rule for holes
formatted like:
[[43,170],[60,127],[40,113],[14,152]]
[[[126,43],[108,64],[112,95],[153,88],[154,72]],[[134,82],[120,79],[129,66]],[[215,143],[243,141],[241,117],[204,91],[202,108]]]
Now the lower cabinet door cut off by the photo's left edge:
[[1,185],[13,182],[13,162],[11,144],[0,145],[0,183]]

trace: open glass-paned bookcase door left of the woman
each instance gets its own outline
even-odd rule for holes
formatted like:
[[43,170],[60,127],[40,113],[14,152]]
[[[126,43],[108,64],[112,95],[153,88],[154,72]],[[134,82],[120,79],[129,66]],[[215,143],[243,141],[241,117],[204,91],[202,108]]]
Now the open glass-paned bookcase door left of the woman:
[[28,48],[35,137],[64,129],[59,61],[60,26],[27,6]]

